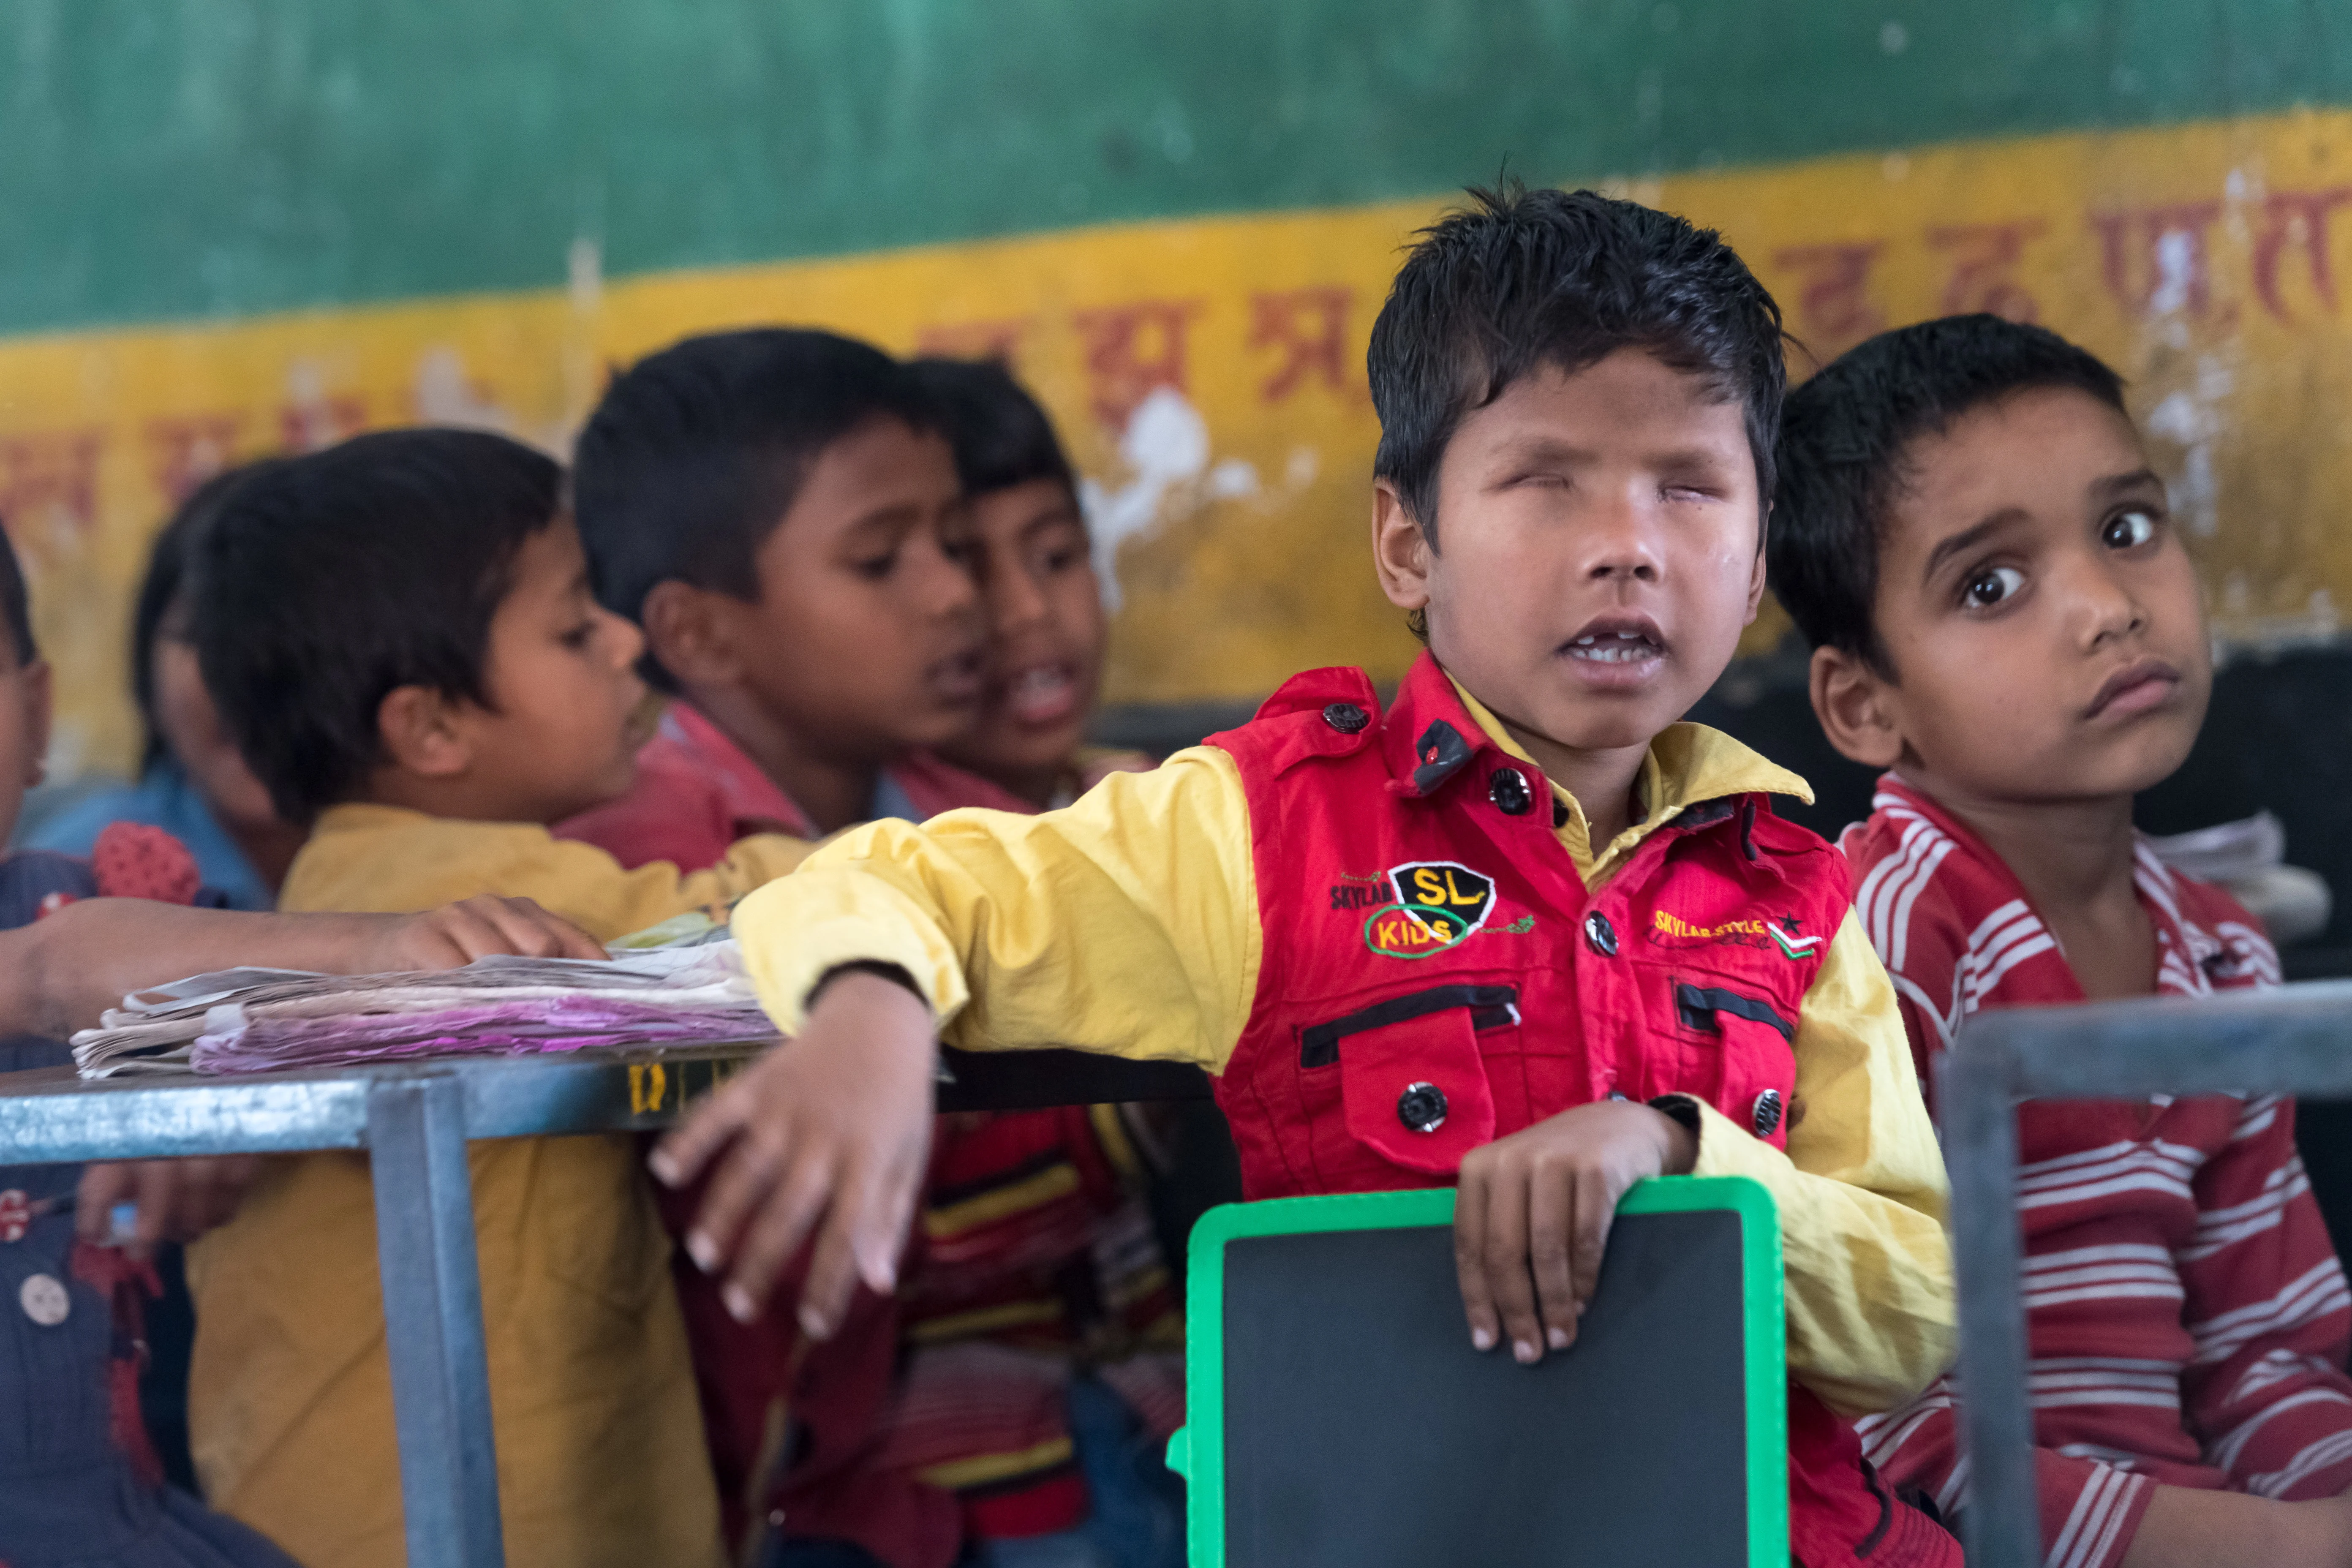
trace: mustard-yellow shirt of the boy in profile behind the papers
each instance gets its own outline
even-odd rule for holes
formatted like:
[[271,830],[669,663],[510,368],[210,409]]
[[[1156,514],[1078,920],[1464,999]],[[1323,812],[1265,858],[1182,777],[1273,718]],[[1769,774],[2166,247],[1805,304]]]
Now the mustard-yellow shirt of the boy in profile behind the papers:
[[[682,877],[666,863],[621,870],[527,823],[336,806],[280,907],[402,912],[503,893],[612,940],[736,898],[807,849],[743,839],[724,865]],[[684,1319],[635,1143],[477,1143],[470,1168],[506,1559],[720,1563]],[[310,1568],[405,1563],[367,1159],[280,1161],[188,1251],[188,1415],[214,1507]]]

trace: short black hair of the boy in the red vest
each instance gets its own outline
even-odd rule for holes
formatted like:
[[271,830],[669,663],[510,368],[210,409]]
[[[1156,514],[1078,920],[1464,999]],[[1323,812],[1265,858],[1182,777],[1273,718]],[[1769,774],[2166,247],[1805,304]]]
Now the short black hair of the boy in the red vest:
[[1371,327],[1371,473],[1435,548],[1437,470],[1465,416],[1541,367],[1644,348],[1740,402],[1769,496],[1780,341],[1780,306],[1710,228],[1592,190],[1472,188],[1470,207],[1421,230]]

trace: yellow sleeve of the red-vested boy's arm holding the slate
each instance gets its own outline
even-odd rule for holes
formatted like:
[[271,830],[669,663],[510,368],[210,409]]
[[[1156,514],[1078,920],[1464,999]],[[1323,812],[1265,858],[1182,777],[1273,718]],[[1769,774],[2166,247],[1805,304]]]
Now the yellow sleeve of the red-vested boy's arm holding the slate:
[[1842,1415],[1924,1389],[1955,1349],[1943,1154],[1893,985],[1851,910],[1797,1020],[1788,1154],[1698,1112],[1696,1175],[1752,1175],[1780,1206],[1797,1380]]

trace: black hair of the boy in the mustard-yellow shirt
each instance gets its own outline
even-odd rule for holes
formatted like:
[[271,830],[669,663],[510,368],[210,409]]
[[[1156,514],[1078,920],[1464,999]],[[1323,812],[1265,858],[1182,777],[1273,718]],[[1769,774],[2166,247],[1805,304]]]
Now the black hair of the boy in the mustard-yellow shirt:
[[515,552],[562,468],[482,430],[381,430],[240,480],[188,559],[195,661],[278,816],[358,799],[397,686],[487,703]]

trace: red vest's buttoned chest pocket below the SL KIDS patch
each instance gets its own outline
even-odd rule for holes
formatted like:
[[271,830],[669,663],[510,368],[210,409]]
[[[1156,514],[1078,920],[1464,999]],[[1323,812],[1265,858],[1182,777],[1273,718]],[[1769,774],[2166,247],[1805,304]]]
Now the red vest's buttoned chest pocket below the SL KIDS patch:
[[[1378,1180],[1381,1164],[1454,1175],[1463,1154],[1494,1140],[1494,1086],[1479,1032],[1517,1025],[1517,987],[1463,983],[1388,997],[1298,1030],[1322,1180],[1334,1190],[1388,1185]],[[1329,1105],[1334,1077],[1338,1117]]]

